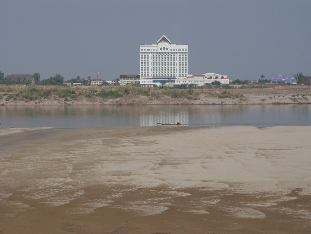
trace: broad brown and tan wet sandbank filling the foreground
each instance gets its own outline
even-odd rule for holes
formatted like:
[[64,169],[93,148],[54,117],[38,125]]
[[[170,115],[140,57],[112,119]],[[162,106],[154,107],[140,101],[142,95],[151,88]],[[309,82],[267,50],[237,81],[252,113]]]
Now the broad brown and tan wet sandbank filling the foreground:
[[0,233],[310,233],[310,139],[310,126],[0,129]]

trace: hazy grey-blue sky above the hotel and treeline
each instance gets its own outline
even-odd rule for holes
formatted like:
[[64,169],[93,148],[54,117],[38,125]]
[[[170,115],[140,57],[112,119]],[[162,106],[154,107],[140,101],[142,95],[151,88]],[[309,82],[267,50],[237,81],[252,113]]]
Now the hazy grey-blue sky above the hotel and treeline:
[[311,1],[1,0],[0,71],[111,80],[139,45],[188,44],[188,74],[311,75]]

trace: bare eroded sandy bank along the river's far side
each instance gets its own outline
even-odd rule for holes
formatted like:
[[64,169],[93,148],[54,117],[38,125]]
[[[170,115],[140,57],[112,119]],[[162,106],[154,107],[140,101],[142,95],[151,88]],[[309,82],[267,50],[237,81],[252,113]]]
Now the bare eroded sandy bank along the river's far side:
[[[42,87],[41,87],[42,88]],[[44,87],[43,87],[44,88]],[[77,88],[77,87],[76,87]],[[90,88],[90,87],[89,87]],[[88,90],[88,87],[81,87],[81,90]],[[121,87],[122,88],[122,87]],[[124,88],[124,87],[123,87]],[[78,92],[80,88],[72,92]],[[181,91],[189,92],[188,95],[179,95]],[[172,93],[176,93],[176,97]],[[229,92],[227,95],[223,92]],[[192,94],[193,93],[193,94]],[[237,97],[234,97],[238,93]],[[171,96],[168,96],[168,95]],[[220,96],[219,96],[220,94]],[[20,96],[15,98],[4,96],[0,92],[0,105],[176,105],[176,104],[197,104],[197,105],[218,105],[218,104],[309,104],[311,103],[311,87],[309,86],[275,86],[272,88],[245,88],[245,89],[192,89],[192,90],[170,90],[167,95],[164,93],[150,96],[124,94],[118,98],[101,98],[80,95],[75,98],[60,98],[53,94],[49,98],[40,97],[35,100],[26,100]],[[14,96],[15,93],[12,93]],[[226,97],[229,96],[229,97]]]

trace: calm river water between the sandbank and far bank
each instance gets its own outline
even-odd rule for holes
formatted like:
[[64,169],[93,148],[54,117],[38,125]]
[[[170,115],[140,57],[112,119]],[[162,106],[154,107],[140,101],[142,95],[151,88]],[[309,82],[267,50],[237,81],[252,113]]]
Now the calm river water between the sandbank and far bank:
[[311,105],[0,106],[2,128],[311,125]]

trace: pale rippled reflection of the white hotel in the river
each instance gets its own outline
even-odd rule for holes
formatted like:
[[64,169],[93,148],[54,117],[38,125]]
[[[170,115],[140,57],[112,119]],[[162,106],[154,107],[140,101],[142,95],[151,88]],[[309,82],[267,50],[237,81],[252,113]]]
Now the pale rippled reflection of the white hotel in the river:
[[177,122],[186,124],[188,121],[188,111],[177,111],[174,113],[159,112],[150,115],[142,114],[140,117],[140,126],[155,126],[157,123],[176,124]]

